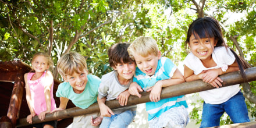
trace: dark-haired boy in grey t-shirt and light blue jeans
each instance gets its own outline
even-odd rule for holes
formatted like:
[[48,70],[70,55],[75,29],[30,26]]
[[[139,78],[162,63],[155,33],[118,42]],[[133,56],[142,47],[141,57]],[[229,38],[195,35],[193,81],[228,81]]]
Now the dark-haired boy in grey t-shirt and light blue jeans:
[[113,71],[102,76],[98,89],[98,104],[102,119],[99,127],[127,127],[136,115],[136,105],[110,109],[105,101],[118,99],[121,106],[127,105],[130,96],[128,88],[133,82],[136,63],[127,52],[129,43],[118,43],[109,48],[109,65]]

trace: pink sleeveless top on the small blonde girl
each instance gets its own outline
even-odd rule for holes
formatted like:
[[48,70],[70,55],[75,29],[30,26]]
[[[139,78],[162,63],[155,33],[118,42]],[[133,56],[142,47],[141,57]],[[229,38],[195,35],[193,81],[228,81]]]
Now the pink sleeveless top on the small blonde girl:
[[[37,115],[47,110],[45,95],[44,95],[45,73],[46,72],[44,72],[42,76],[37,80],[31,80],[33,74],[35,73],[30,72],[27,74],[27,83],[29,84],[29,88],[30,88],[31,102],[33,105],[32,107]],[[52,83],[52,87],[50,91],[51,103],[52,103],[51,111],[56,108],[53,90],[54,90],[54,83]]]

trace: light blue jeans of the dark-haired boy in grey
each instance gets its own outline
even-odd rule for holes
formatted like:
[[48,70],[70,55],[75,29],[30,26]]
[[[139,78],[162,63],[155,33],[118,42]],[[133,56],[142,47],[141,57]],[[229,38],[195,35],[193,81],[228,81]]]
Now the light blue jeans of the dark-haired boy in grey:
[[136,111],[131,110],[112,115],[111,117],[104,116],[99,128],[128,127],[128,125],[130,125],[130,123],[134,120],[134,116],[136,116]]

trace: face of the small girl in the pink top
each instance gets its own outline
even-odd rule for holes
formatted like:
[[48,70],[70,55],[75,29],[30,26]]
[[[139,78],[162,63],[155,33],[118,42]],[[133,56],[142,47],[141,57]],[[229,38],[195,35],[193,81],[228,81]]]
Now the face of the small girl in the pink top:
[[36,56],[31,64],[35,72],[44,72],[49,68],[48,59],[42,55]]

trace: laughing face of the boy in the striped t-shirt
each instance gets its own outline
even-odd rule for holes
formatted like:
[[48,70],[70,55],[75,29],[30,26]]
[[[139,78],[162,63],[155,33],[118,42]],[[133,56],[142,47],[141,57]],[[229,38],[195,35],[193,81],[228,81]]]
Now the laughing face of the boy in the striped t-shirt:
[[148,54],[147,56],[138,55],[136,52],[133,54],[138,69],[147,74],[148,76],[152,76],[155,74],[155,70],[157,70],[158,60],[161,59],[161,52],[158,51],[158,55]]

